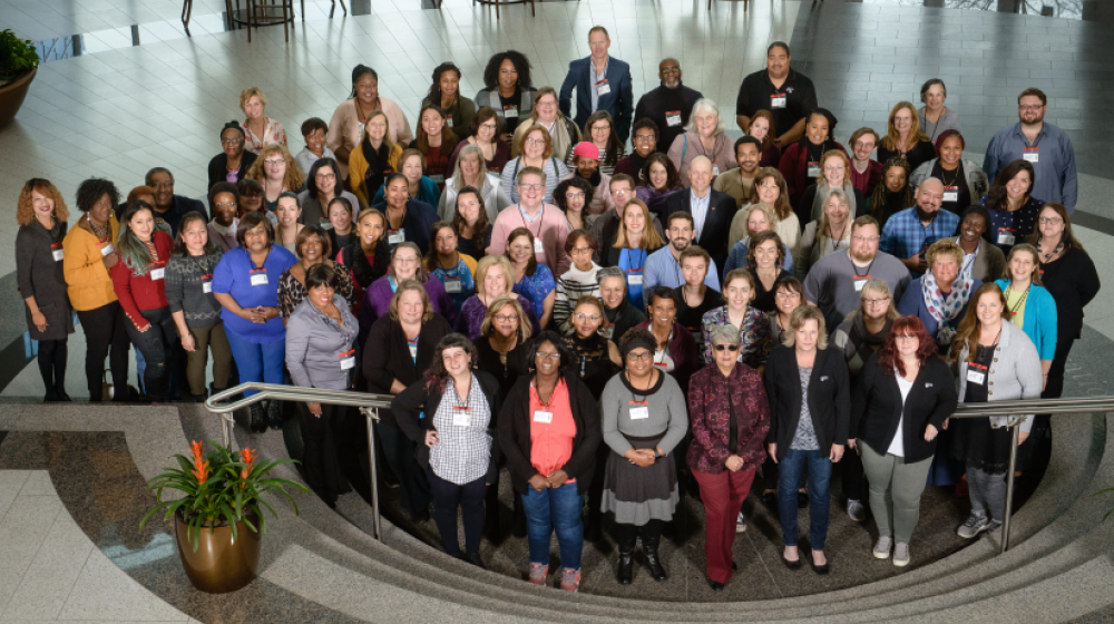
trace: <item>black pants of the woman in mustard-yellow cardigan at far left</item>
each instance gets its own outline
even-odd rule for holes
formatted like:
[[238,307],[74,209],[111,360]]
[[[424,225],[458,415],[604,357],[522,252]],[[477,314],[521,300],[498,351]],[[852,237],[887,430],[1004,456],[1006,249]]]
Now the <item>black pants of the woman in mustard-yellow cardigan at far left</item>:
[[101,305],[94,310],[79,311],[78,320],[85,329],[85,378],[89,386],[89,400],[98,402],[101,399],[105,382],[105,358],[109,357],[113,370],[113,400],[128,400],[128,324],[119,301]]

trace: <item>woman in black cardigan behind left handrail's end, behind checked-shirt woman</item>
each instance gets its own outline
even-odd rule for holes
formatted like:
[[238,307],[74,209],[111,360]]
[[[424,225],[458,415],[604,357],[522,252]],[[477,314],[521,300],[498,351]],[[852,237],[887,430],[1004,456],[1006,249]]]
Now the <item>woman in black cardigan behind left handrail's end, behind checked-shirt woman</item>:
[[[432,364],[437,344],[451,332],[449,322],[433,312],[426,289],[413,280],[403,281],[391,299],[390,313],[377,319],[368,332],[363,374],[369,391],[398,394],[412,386]],[[402,433],[390,410],[379,410],[375,430],[383,458],[399,479],[402,508],[414,521],[428,520],[430,490],[414,460],[417,442]]]

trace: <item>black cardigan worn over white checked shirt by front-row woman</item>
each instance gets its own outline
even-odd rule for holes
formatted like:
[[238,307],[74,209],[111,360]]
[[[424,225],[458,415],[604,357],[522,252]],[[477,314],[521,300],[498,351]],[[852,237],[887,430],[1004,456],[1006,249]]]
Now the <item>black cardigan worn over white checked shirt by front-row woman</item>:
[[[419,340],[419,342],[421,341]],[[499,470],[499,440],[496,437],[499,410],[502,407],[499,400],[499,383],[483,371],[472,372],[479,381],[480,390],[483,391],[483,398],[487,399],[488,408],[491,410],[491,420],[488,423],[488,435],[491,436],[491,460],[488,464],[486,482],[492,484]],[[443,396],[444,393],[437,388],[430,388],[423,376],[422,379],[399,392],[391,401],[391,411],[394,412],[394,420],[398,422],[399,429],[408,438],[418,442],[416,459],[422,469],[429,469],[429,447],[426,446],[426,432],[437,431],[433,427],[433,415],[437,413],[437,408],[440,407]],[[419,418],[419,413],[422,411],[426,412],[426,418]]]

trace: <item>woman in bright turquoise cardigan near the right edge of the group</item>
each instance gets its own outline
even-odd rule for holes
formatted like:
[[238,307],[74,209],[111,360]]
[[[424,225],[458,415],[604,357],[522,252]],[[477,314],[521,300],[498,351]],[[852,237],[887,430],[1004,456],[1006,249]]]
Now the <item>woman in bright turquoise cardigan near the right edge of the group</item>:
[[1056,300],[1040,285],[1037,250],[1015,245],[1006,257],[1006,275],[995,282],[1006,294],[1010,321],[1029,337],[1040,357],[1042,389],[1056,357]]

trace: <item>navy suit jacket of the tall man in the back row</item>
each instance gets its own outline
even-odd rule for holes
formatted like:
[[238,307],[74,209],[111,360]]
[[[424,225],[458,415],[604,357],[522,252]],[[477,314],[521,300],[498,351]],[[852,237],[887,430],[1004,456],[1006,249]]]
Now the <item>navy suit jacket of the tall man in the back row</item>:
[[[600,96],[596,105],[598,110],[606,110],[615,120],[615,131],[620,143],[626,143],[631,136],[631,121],[634,114],[634,91],[631,86],[631,66],[615,57],[607,58],[607,85],[612,91]],[[573,110],[573,89],[576,89],[576,115]],[[560,111],[571,117],[576,125],[584,128],[584,123],[592,115],[592,57],[574,60],[568,64],[568,74],[560,86]]]

